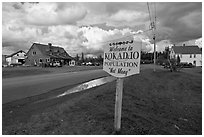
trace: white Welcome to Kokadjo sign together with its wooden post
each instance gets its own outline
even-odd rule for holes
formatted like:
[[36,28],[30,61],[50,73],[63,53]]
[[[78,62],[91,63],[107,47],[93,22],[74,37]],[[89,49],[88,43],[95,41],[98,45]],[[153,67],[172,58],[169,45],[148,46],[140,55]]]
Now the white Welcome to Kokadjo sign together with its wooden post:
[[140,39],[126,37],[113,40],[104,47],[103,70],[117,77],[114,120],[117,133],[121,130],[123,78],[140,72],[141,46]]

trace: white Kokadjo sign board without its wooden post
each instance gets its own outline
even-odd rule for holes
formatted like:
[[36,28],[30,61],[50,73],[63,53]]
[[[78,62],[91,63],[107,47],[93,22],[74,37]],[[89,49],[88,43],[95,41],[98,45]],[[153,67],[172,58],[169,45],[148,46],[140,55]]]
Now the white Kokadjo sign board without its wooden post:
[[103,70],[119,78],[140,73],[141,46],[142,41],[132,36],[107,43]]

